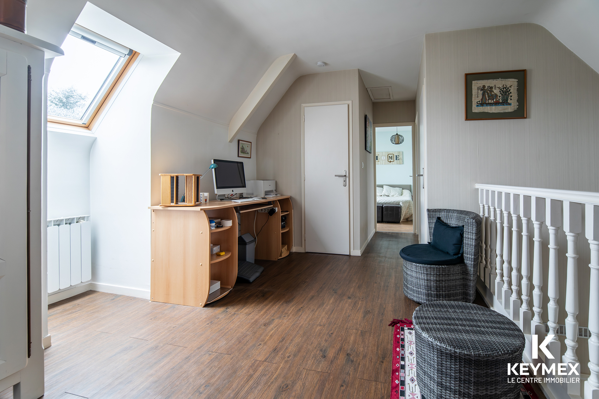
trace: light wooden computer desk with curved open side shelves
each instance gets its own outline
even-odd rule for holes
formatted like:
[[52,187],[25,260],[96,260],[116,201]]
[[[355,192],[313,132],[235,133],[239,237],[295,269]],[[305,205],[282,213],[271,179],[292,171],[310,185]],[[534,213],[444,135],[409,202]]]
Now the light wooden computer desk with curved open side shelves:
[[[272,202],[272,205],[268,205]],[[268,213],[258,209],[276,207]],[[283,258],[294,242],[293,208],[289,195],[268,200],[210,201],[193,207],[150,207],[152,210],[152,276],[150,298],[155,302],[204,307],[231,291],[237,280],[237,211],[241,234],[254,235],[256,259]],[[281,216],[287,226],[281,229]],[[231,219],[232,226],[210,229],[209,219]],[[264,225],[264,227],[262,227]],[[210,244],[220,245],[225,255],[210,255]],[[282,254],[287,246],[288,252]],[[210,280],[220,289],[208,295]]]

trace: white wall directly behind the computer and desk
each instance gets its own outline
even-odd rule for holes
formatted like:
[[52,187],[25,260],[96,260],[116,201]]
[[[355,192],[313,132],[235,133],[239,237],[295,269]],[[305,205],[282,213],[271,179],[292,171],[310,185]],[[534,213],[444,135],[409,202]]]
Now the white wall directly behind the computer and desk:
[[[177,134],[173,134],[176,132]],[[152,205],[160,204],[160,173],[202,174],[211,159],[242,161],[246,180],[256,179],[256,134],[241,131],[237,139],[252,143],[252,158],[238,158],[237,140],[228,142],[228,126],[172,107],[152,107]],[[212,173],[200,181],[202,192],[216,200]]]

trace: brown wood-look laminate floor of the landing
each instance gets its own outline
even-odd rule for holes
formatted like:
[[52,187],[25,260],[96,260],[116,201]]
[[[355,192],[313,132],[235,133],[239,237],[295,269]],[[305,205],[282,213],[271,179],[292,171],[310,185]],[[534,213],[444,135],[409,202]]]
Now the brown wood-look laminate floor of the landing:
[[[44,398],[389,398],[400,249],[291,253],[204,309],[88,291],[49,306]],[[0,399],[11,398],[10,391]]]

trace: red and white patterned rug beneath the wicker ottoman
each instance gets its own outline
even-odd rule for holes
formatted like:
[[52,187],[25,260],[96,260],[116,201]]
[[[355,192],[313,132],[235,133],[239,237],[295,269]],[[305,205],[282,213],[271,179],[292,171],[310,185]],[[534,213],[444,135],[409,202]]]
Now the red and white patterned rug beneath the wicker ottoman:
[[[416,381],[416,337],[411,320],[394,319],[391,399],[421,399]],[[521,399],[539,399],[530,384],[522,384]]]

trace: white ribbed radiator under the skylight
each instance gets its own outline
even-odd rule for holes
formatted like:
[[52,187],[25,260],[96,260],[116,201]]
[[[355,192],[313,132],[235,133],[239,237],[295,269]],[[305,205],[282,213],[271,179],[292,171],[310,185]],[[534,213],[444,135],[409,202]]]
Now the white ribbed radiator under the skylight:
[[48,292],[92,279],[89,215],[48,220]]

